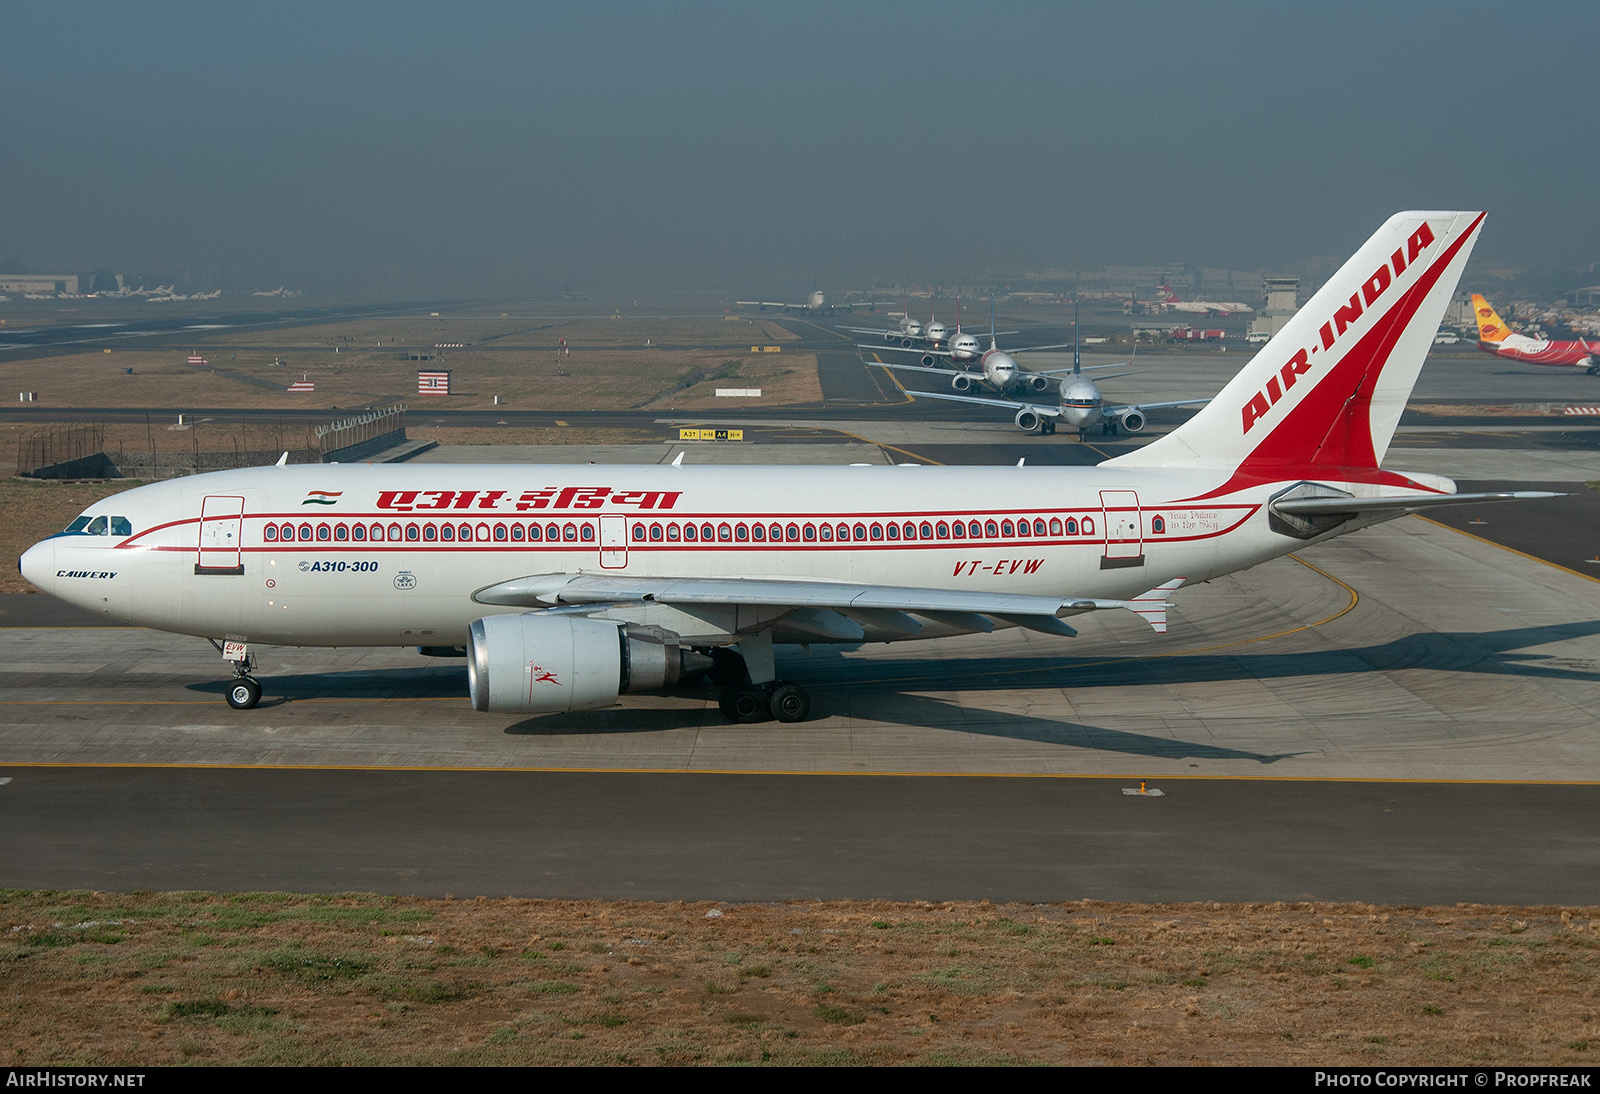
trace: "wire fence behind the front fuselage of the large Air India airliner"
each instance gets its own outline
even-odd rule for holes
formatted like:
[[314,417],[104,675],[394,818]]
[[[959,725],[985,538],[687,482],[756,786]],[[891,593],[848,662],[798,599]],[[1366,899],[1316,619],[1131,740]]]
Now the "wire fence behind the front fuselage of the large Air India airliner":
[[[186,430],[189,443],[174,445],[174,438],[168,435],[171,429]],[[24,478],[141,478],[154,481],[235,467],[264,467],[278,462],[285,453],[288,453],[291,464],[354,462],[406,440],[405,403],[394,403],[315,427],[277,422],[248,429],[242,422],[238,432],[229,438],[230,446],[202,448],[205,441],[214,445],[213,438],[218,432],[229,429],[219,422],[179,424],[165,429],[146,422],[147,445],[125,440],[107,445],[104,422],[56,425],[18,438],[16,473]],[[302,429],[304,433],[301,433]],[[242,433],[250,440],[242,443]],[[294,435],[302,438],[299,445],[290,440]],[[262,443],[272,443],[272,446],[262,448]]]

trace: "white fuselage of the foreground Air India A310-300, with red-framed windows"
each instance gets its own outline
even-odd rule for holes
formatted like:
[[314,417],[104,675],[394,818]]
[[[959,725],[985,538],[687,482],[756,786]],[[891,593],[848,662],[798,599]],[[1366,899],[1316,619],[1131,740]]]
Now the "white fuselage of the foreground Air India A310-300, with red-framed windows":
[[[96,502],[90,515],[109,520],[90,528],[110,531],[42,541],[22,573],[109,619],[304,646],[461,645],[474,619],[515,611],[475,592],[534,574],[1123,598],[1304,545],[1270,531],[1262,512],[1286,483],[1184,501],[1222,478],[1110,467],[264,467]],[[963,632],[946,622],[920,637]],[[784,624],[774,638],[818,640]]]

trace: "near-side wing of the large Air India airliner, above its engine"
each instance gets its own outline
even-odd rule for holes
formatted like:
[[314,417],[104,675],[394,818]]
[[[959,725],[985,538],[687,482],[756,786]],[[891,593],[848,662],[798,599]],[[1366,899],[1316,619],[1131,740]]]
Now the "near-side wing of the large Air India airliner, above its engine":
[[[882,621],[882,613],[926,614],[973,630],[992,630],[1006,622],[1056,635],[1077,632],[1062,616],[1126,608],[1150,627],[1166,630],[1166,601],[1184,584],[1182,577],[1141,593],[1133,600],[1102,597],[1035,597],[1029,593],[981,592],[966,589],[907,589],[901,585],[859,585],[853,582],[742,577],[629,577],[611,574],[534,574],[483,589],[472,598],[483,605],[510,608],[613,606],[619,603],[765,606],[790,611],[835,611],[848,617]],[[875,614],[874,614],[875,613]],[[912,633],[922,629],[906,619]]]

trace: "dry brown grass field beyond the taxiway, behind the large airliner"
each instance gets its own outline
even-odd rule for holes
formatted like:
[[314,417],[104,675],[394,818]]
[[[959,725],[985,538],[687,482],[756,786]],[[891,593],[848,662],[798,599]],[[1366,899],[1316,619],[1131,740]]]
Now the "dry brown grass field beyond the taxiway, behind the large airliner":
[[[750,352],[794,341],[768,323],[584,320],[499,329],[507,323],[453,320],[411,333],[398,329],[414,326],[402,320],[198,331],[192,349],[206,358],[203,366],[189,365],[186,349],[117,350],[13,361],[6,374],[14,390],[35,392],[40,406],[149,406],[168,417],[197,406],[318,408],[334,416],[334,408],[414,400],[419,368],[453,371],[453,393],[427,400],[453,409],[493,406],[496,395],[506,409],[706,409],[728,401],[715,398],[715,387],[760,387],[765,406],[822,398],[814,355]],[[571,355],[557,342],[563,329]],[[445,341],[474,345],[434,361],[405,360],[402,352]],[[317,390],[285,392],[301,379]]]

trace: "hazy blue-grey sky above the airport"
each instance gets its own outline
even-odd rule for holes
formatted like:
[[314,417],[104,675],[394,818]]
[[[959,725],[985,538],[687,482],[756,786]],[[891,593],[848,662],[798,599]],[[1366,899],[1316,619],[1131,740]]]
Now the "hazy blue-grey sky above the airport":
[[1570,3],[21,3],[0,262],[360,294],[1600,259]]

